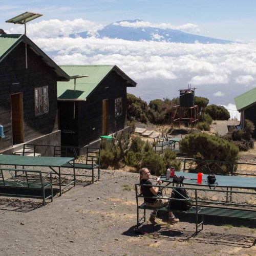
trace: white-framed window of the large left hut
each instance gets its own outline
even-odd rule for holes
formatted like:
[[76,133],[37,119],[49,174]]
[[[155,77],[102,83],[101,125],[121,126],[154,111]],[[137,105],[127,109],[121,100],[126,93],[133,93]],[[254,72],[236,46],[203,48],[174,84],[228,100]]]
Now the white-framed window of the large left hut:
[[49,112],[48,86],[35,88],[35,115]]

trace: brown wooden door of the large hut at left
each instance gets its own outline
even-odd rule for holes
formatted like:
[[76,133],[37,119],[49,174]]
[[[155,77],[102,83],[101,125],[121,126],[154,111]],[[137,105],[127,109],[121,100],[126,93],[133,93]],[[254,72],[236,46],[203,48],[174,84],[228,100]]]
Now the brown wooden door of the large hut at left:
[[23,97],[22,93],[12,94],[12,141],[13,144],[24,142]]

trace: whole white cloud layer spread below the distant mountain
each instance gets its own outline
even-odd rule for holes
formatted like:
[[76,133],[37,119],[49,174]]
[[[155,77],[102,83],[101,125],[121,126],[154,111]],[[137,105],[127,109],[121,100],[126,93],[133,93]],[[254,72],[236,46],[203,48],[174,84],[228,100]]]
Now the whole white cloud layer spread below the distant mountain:
[[[138,82],[137,88],[129,92],[147,101],[178,97],[178,90],[191,83],[197,88],[196,95],[208,97],[211,103],[228,105],[256,85],[256,42],[179,44],[67,36],[100,28],[83,19],[48,20],[28,26],[28,35],[59,65],[117,65]],[[8,32],[23,30],[23,26],[15,26]]]

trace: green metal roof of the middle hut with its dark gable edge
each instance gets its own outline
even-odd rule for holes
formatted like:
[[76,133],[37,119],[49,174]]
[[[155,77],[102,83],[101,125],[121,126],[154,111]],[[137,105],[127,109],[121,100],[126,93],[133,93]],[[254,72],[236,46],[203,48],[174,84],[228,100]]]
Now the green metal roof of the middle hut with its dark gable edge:
[[76,79],[76,91],[74,91],[74,80],[58,82],[59,100],[86,100],[104,77],[112,70],[126,79],[127,86],[136,86],[135,81],[114,65],[61,65],[60,67],[69,76],[84,75],[88,77]]

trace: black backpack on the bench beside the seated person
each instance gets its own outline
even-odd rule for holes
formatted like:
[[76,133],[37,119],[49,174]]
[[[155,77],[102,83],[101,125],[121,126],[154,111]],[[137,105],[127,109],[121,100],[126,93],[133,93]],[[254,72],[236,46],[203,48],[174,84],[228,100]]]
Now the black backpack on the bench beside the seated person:
[[187,191],[185,188],[173,188],[172,197],[170,199],[169,208],[172,210],[189,210],[191,207],[191,203],[189,201],[178,201],[172,200],[175,199],[189,199],[187,195]]

